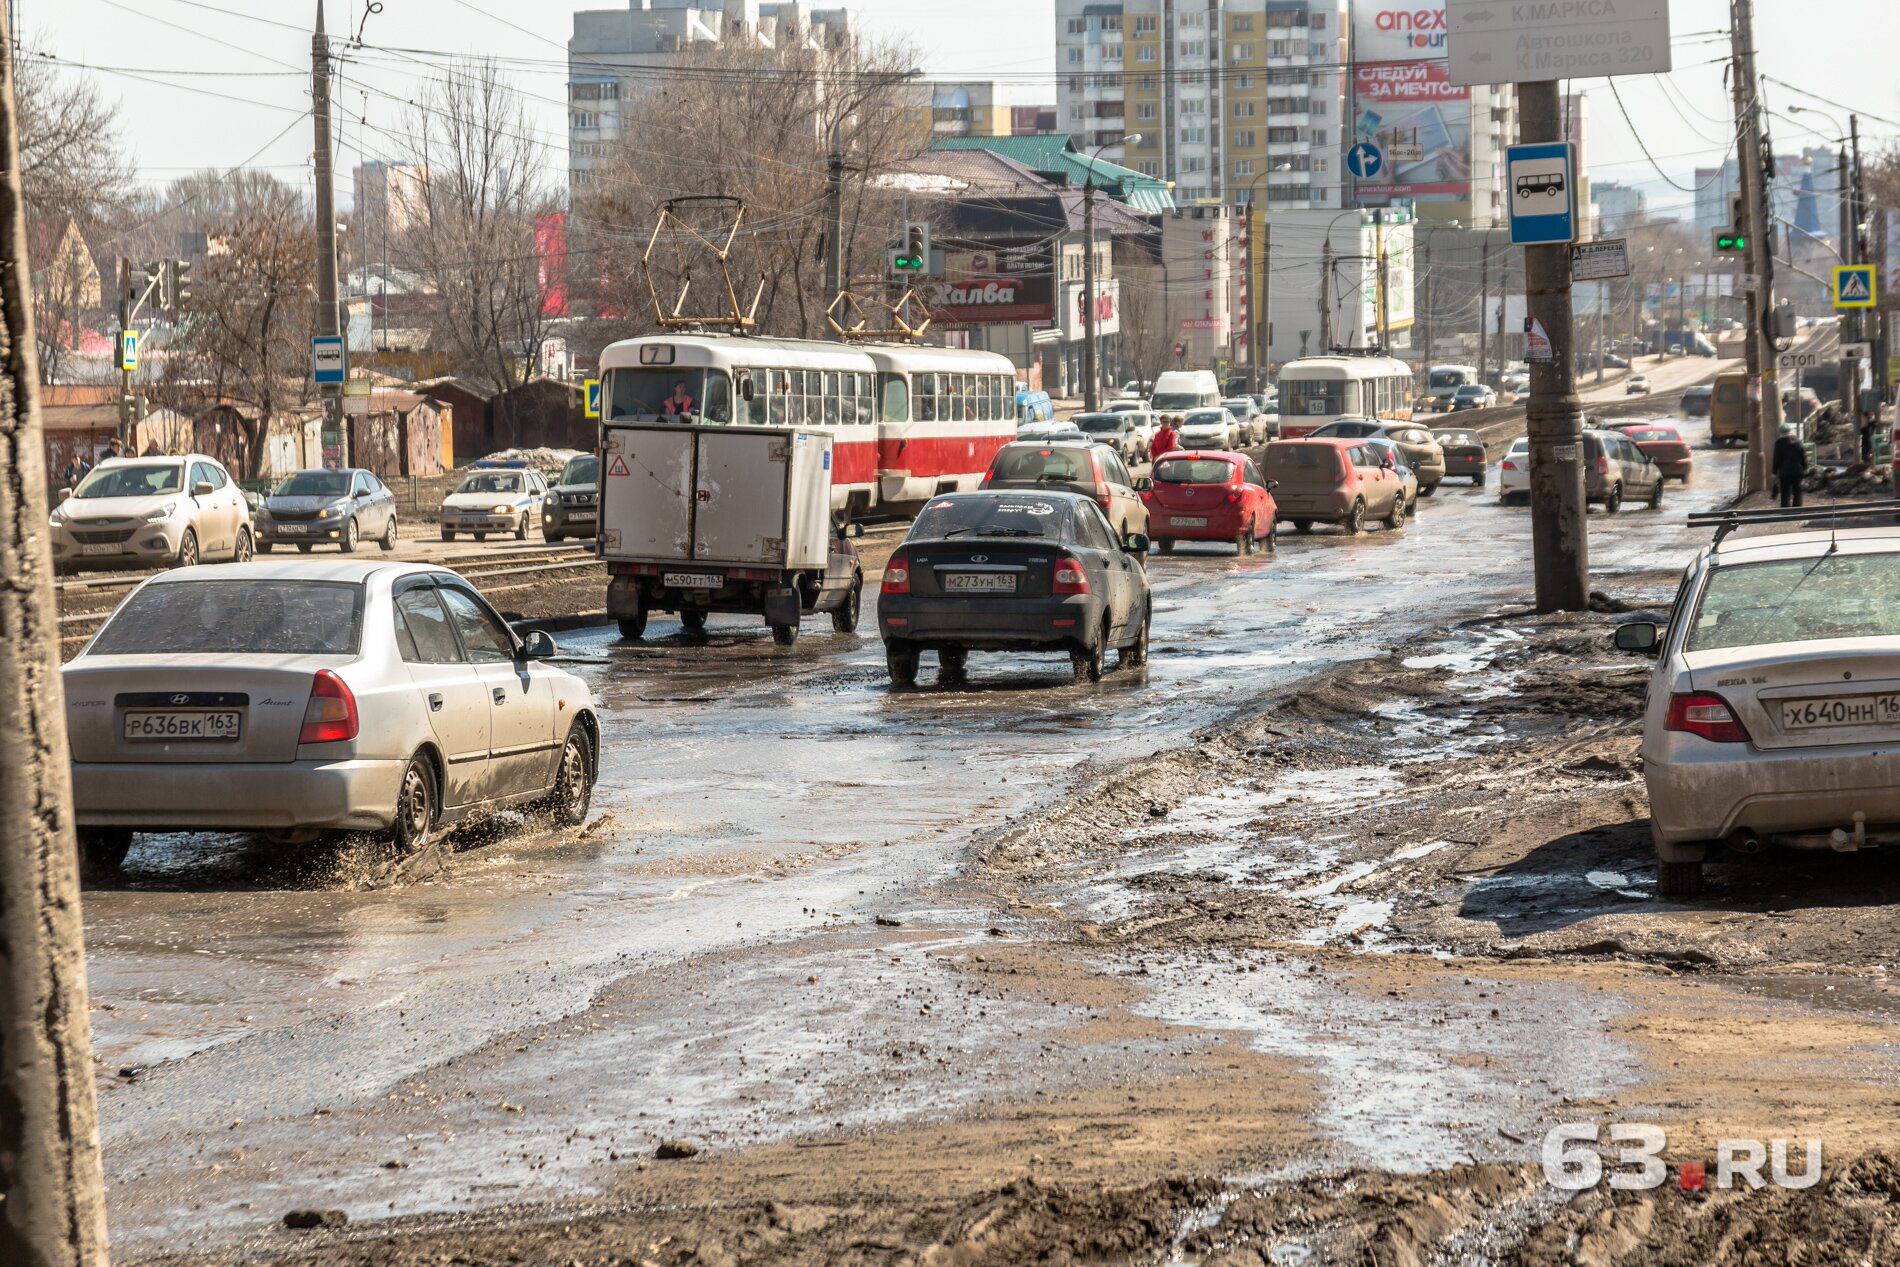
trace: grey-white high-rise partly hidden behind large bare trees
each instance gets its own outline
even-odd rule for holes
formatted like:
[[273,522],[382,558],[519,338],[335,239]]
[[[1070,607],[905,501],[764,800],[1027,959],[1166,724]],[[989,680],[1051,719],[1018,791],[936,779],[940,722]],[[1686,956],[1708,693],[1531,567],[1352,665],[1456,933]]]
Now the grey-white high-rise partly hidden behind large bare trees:
[[578,11],[568,40],[572,184],[589,184],[619,137],[621,101],[654,87],[682,51],[724,40],[836,47],[855,40],[855,30],[847,9],[815,9],[806,0],[627,0],[621,9]]

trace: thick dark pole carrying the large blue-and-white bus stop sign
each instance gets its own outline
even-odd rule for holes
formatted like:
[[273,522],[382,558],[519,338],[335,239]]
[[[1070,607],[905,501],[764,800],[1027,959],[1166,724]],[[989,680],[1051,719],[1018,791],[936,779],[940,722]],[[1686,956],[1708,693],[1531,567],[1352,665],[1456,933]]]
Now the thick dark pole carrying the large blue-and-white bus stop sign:
[[[1564,141],[1556,80],[1518,85],[1528,144]],[[1524,300],[1550,338],[1550,359],[1531,361],[1531,560],[1539,612],[1583,612],[1590,602],[1590,536],[1583,500],[1583,403],[1577,399],[1569,243],[1524,247]]]

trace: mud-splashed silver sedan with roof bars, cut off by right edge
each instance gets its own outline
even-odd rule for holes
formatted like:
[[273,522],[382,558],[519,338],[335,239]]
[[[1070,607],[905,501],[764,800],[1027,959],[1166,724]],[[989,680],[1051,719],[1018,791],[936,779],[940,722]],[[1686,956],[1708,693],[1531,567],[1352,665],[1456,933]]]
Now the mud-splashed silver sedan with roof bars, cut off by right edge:
[[1900,843],[1900,530],[1885,519],[1718,538],[1683,574],[1666,625],[1617,631],[1619,648],[1657,657],[1642,764],[1664,897],[1699,893],[1723,845]]

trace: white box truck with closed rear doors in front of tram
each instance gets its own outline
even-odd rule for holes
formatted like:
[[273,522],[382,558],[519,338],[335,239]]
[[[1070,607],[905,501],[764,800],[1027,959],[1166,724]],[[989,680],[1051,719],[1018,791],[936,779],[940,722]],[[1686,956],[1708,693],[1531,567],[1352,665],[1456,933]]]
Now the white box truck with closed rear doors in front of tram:
[[711,612],[762,615],[781,646],[808,612],[857,629],[864,570],[832,530],[823,431],[610,422],[600,427],[600,558],[627,638],[654,612],[701,633]]

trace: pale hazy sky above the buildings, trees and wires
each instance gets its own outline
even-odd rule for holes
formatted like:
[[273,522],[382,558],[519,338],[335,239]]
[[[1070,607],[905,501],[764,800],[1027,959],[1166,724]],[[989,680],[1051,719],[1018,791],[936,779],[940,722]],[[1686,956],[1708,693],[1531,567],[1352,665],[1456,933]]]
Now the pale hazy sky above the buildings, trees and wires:
[[[998,78],[1024,103],[1054,101],[1054,0],[836,0],[878,34],[908,38],[925,70],[944,78]],[[125,142],[142,179],[165,182],[200,167],[241,161],[285,179],[308,173],[310,36],[315,0],[15,0],[25,53],[51,53],[87,70],[124,104]],[[391,156],[393,131],[439,53],[519,59],[513,70],[538,125],[564,161],[564,49],[572,0],[382,0],[367,19],[367,49],[346,66],[338,97],[344,167]],[[825,8],[830,8],[826,4]],[[332,32],[355,32],[365,0],[329,0]],[[1693,194],[1672,190],[1638,144],[1682,184],[1727,144],[1723,82],[1727,0],[1674,0],[1676,70],[1617,80],[1624,123],[1606,80],[1579,80],[1590,95],[1590,169],[1598,180],[1651,190],[1664,215]],[[1756,0],[1761,72],[1862,112],[1870,146],[1900,137],[1896,0]],[[110,66],[110,70],[106,70]],[[186,74],[192,72],[192,74]],[[1666,80],[1666,82],[1662,82]],[[1845,110],[1771,84],[1769,104],[1813,104],[1845,125]],[[1879,116],[1879,118],[1873,118]],[[1771,118],[1778,150],[1834,135],[1820,114]],[[255,156],[255,158],[253,158]],[[348,182],[346,182],[348,184]],[[348,186],[342,190],[348,198]]]

